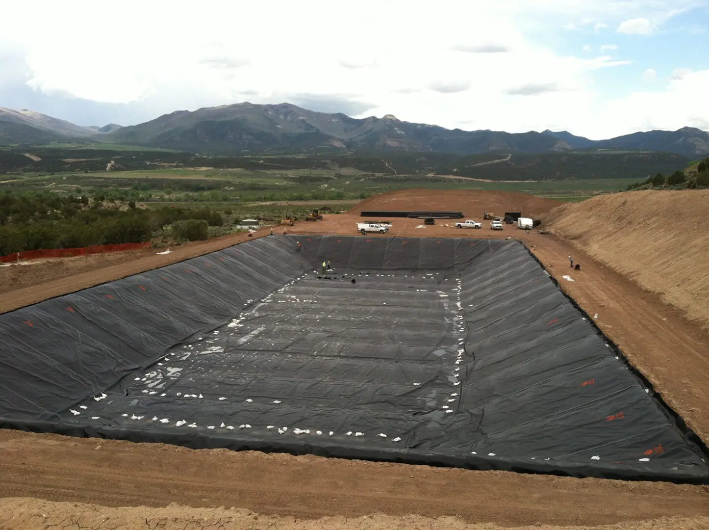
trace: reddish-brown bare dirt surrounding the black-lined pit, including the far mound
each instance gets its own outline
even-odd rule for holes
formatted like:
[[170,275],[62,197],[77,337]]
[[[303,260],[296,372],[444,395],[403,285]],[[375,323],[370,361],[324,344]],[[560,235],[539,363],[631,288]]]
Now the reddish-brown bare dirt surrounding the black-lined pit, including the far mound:
[[[463,199],[457,197],[461,194],[456,192],[447,196],[448,202],[440,199],[444,194],[436,191],[413,190],[398,195],[401,197],[397,194],[381,196],[386,199],[386,204],[374,197],[364,206],[357,206],[352,213],[325,215],[324,221],[299,222],[288,230],[289,233],[302,233],[304,244],[308,233],[357,235],[356,223],[362,220],[358,212],[363,207],[462,210],[472,219],[479,219],[482,211],[490,209],[498,209],[500,214],[505,210],[527,214],[532,209],[542,212],[552,207],[545,199],[532,197],[525,199],[528,201],[525,203],[515,197],[517,194],[506,197],[507,194],[501,192],[490,194],[489,202],[486,202],[485,192],[471,192]],[[436,199],[431,201],[424,199],[434,196]],[[419,197],[419,202],[412,203],[412,197]],[[475,210],[470,204],[474,204]],[[682,414],[705,441],[709,441],[709,394],[705,392],[709,386],[709,356],[706,355],[709,333],[686,320],[678,309],[661,302],[657,294],[644,291],[627,277],[596,262],[569,243],[537,231],[525,233],[506,225],[502,232],[493,232],[488,224],[484,224],[481,230],[456,229],[453,221],[437,221],[434,226],[416,228],[421,222],[418,219],[392,221],[394,225],[388,235],[367,237],[515,237],[525,242],[549,273],[561,282],[565,292],[591,316],[598,313],[596,323],[604,333],[618,343],[628,360],[648,377],[670,406]],[[282,228],[278,230],[281,232]],[[267,233],[268,229],[259,231],[259,235]],[[23,303],[37,302],[246,240],[244,235],[226,236],[216,241],[184,245],[166,256],[155,255],[156,251],[153,251],[133,261],[109,264],[103,269],[75,273],[65,279],[52,281],[48,278],[49,281],[43,284],[6,292],[1,297],[0,308],[8,310]],[[569,271],[566,257],[571,253],[581,263],[580,271]],[[5,270],[0,269],[0,277]],[[75,270],[78,271],[78,267]],[[562,275],[567,274],[575,281],[563,280]],[[632,311],[628,311],[629,307]],[[462,529],[465,521],[501,526],[620,523],[619,530],[699,529],[708,527],[709,517],[708,487],[474,472],[313,456],[191,451],[160,444],[66,438],[8,430],[0,430],[0,477],[0,497],[39,497],[52,502],[86,502],[108,507],[164,507],[175,502],[196,508],[172,506],[166,509],[167,512],[140,508],[118,514],[91,507],[91,513],[100,512],[103,517],[133,517],[130,519],[133,523],[128,521],[126,529],[147,527],[130,524],[143,524],[140,521],[148,517],[182,521],[182,526],[175,526],[180,529],[190,521],[197,521],[194,522],[195,528],[208,528],[201,522],[203,517],[212,517],[211,512],[205,514],[197,508],[219,506],[236,506],[261,514],[299,519],[337,517],[316,523],[258,516],[259,519],[249,526],[239,519],[245,512],[238,512],[238,520],[230,522],[233,526],[224,526],[235,529],[275,528],[274,524],[279,528],[348,529],[350,526],[347,525],[352,524],[350,518],[372,514],[381,515],[361,521],[357,519],[357,525],[351,527]],[[4,524],[9,528],[33,528],[6,523],[2,517],[7,518],[8,514],[52,509],[68,517],[69,513],[77,512],[77,507],[71,504],[42,504],[27,499],[6,499],[0,502],[0,507],[7,507],[0,512],[3,513],[0,528]],[[220,517],[222,515],[220,512]],[[452,515],[461,519],[425,519]],[[691,520],[660,519],[676,516]],[[648,526],[631,522],[649,519],[657,521]],[[71,526],[59,526],[63,527]]]

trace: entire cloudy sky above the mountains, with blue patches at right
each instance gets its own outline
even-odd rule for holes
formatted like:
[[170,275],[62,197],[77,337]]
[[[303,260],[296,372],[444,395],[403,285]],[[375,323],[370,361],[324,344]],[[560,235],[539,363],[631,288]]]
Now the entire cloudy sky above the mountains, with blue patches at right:
[[709,0],[5,2],[0,106],[80,125],[288,101],[592,139],[709,130]]

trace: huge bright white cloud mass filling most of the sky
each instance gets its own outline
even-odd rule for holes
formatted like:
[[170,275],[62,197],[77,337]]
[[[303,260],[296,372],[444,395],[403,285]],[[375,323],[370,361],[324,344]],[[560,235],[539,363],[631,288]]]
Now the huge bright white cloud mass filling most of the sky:
[[[564,23],[575,21],[573,28],[591,33],[641,16],[655,27],[696,2],[449,0],[448,9],[430,10],[405,0],[361,0],[350,12],[325,0],[309,0],[308,9],[286,0],[201,0],[199,9],[189,10],[166,0],[124,0],[116,11],[83,0],[25,0],[8,2],[3,16],[31,18],[33,31],[6,25],[0,56],[7,43],[21,50],[16,53],[30,67],[30,85],[42,92],[128,105],[142,101],[155,116],[207,104],[291,101],[446,127],[474,123],[517,132],[553,126],[603,137],[604,131],[630,132],[654,115],[654,107],[631,102],[632,111],[608,119],[606,109],[615,109],[614,103],[594,88],[596,70],[630,61],[605,55],[614,49],[609,45],[599,57],[554,53],[532,40],[529,30],[561,33]],[[43,16],[33,16],[38,11]],[[120,28],[140,38],[102,38],[100,45],[87,40],[77,55],[77,40],[57,39],[57,27],[70,35]],[[0,71],[3,82],[1,57]],[[693,111],[709,118],[709,109],[695,104]]]

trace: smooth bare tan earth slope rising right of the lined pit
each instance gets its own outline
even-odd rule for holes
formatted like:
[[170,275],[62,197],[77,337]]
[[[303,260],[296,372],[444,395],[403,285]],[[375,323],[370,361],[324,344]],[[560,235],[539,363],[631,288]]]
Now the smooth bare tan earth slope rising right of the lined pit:
[[708,211],[709,191],[639,191],[564,204],[542,219],[709,329]]

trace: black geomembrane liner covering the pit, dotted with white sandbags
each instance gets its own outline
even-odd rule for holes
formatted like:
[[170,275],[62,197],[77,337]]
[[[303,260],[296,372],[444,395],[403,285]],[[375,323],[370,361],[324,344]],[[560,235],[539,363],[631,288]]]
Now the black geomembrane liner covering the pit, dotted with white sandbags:
[[514,241],[269,236],[2,314],[0,336],[0,426],[709,480]]

